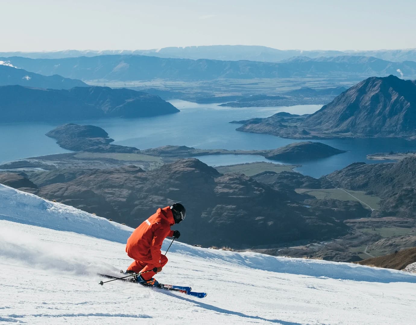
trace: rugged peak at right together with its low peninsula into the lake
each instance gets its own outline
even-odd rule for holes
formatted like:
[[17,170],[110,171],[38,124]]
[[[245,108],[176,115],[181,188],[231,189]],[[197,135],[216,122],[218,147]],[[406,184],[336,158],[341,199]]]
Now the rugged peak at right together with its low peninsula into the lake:
[[286,138],[416,138],[416,81],[370,77],[311,115],[277,113],[233,123],[237,130]]

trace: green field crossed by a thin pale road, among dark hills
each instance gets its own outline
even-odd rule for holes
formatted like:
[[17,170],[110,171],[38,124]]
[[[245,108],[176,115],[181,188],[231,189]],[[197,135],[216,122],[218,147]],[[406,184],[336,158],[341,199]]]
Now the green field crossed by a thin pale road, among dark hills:
[[364,202],[364,207],[367,207],[365,204],[368,204],[371,209],[377,210],[380,208],[379,201],[380,198],[374,195],[367,195],[363,191],[344,191],[337,188],[332,189],[303,189],[299,188],[295,190],[297,193],[306,193],[316,197],[317,199],[338,199],[343,201],[362,201]]

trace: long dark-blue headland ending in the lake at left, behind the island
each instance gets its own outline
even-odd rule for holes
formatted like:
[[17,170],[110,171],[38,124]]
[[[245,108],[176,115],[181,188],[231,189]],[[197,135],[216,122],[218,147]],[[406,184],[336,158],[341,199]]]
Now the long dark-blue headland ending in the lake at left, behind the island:
[[2,122],[73,121],[176,113],[158,96],[130,89],[74,87],[69,90],[0,86]]

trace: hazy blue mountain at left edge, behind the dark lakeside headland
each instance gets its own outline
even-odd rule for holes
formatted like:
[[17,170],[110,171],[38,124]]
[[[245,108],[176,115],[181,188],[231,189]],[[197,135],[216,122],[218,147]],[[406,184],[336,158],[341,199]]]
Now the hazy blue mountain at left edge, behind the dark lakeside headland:
[[77,79],[64,78],[54,74],[42,76],[23,69],[0,64],[0,86],[20,85],[35,88],[70,89],[73,87],[88,87],[86,83]]

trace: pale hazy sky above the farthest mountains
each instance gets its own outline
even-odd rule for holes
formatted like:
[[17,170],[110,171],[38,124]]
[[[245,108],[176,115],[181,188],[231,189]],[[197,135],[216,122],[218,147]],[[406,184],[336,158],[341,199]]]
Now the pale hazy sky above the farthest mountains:
[[0,52],[416,48],[416,0],[0,0]]

